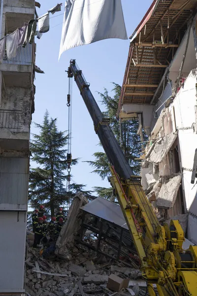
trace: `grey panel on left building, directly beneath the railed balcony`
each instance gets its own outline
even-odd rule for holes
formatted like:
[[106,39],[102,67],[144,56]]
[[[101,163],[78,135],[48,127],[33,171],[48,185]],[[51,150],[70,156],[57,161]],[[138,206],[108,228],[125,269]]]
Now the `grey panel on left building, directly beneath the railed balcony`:
[[28,158],[0,158],[0,204],[27,204]]

